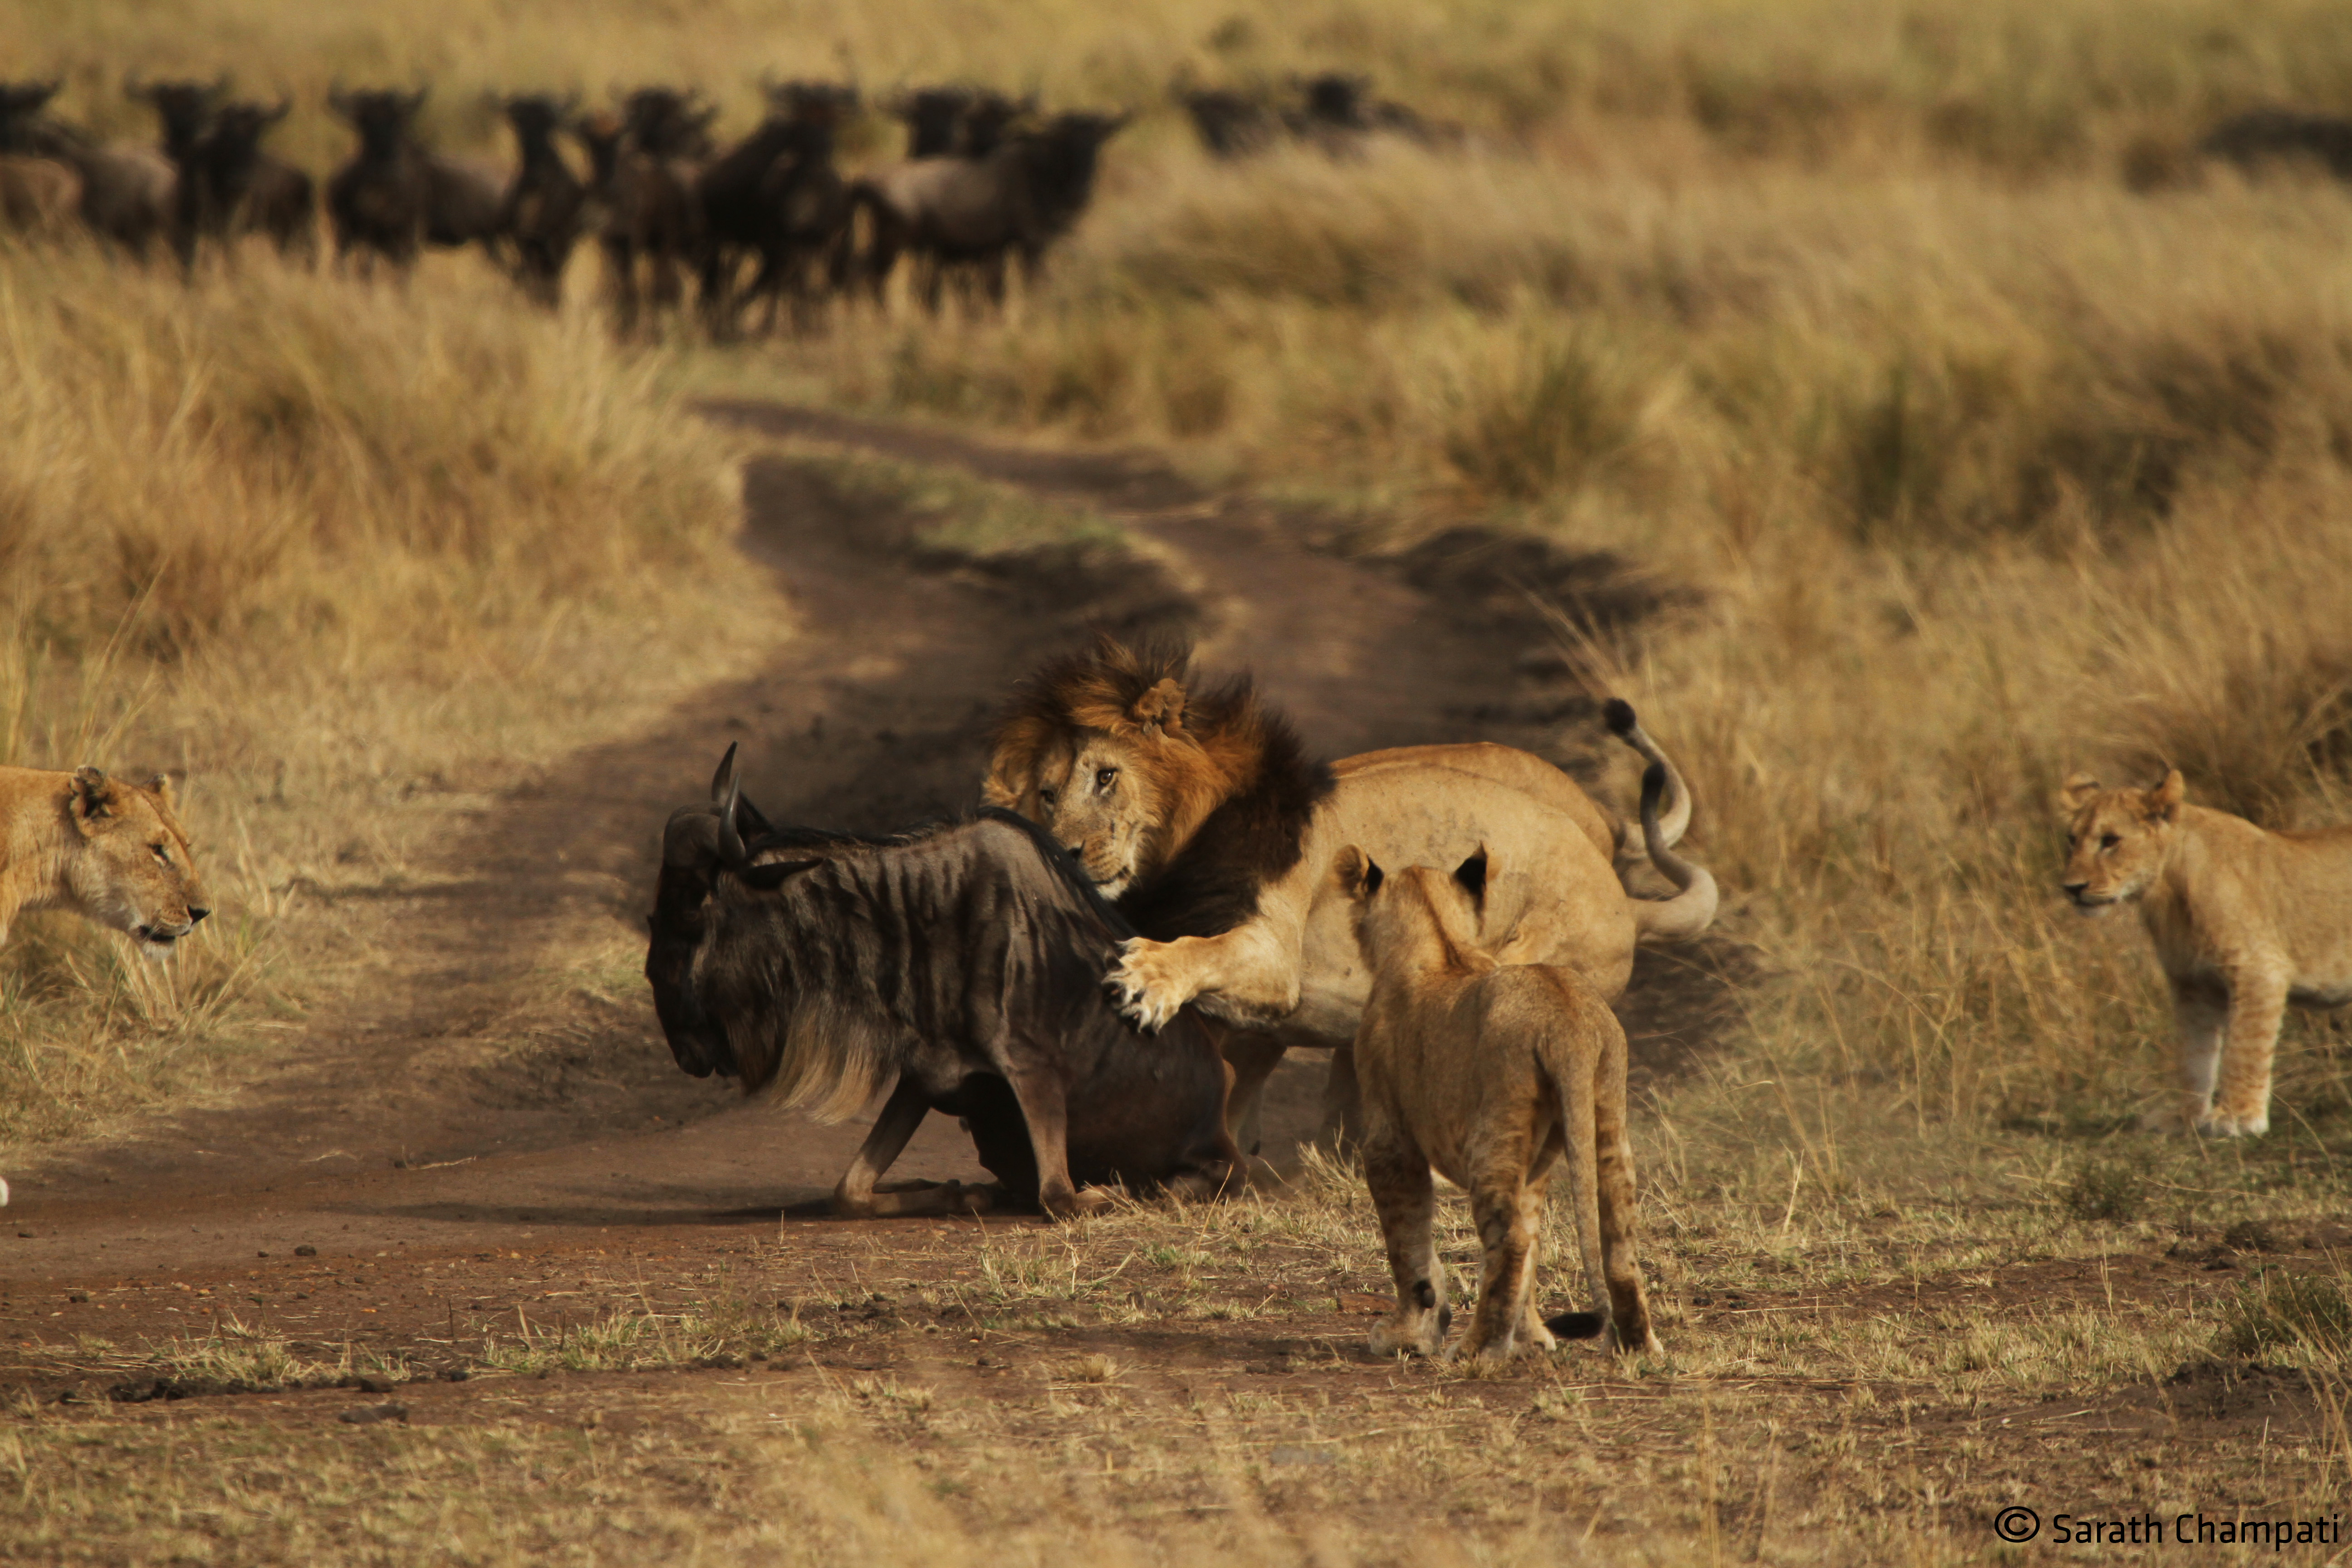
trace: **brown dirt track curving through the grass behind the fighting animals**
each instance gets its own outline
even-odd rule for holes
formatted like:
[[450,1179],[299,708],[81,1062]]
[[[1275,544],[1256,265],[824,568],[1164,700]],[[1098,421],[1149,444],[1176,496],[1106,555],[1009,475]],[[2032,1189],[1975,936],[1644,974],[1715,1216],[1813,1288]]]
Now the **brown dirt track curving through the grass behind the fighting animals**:
[[[851,508],[804,463],[755,461],[743,548],[800,607],[788,654],[677,705],[652,733],[548,769],[473,825],[447,882],[386,889],[405,900],[409,943],[362,1001],[308,1025],[285,1077],[226,1110],[12,1173],[7,1342],[78,1331],[134,1342],[235,1309],[299,1340],[445,1345],[459,1319],[553,1300],[555,1276],[569,1281],[567,1312],[595,1309],[604,1291],[581,1274],[621,1286],[590,1260],[708,1260],[767,1244],[779,1208],[807,1215],[788,1220],[783,1248],[804,1234],[823,1272],[826,1255],[858,1244],[811,1206],[863,1124],[821,1128],[677,1074],[642,997],[567,999],[534,1053],[489,1048],[513,1034],[508,992],[534,954],[590,922],[640,922],[661,820],[703,790],[729,741],[781,820],[887,827],[955,813],[971,802],[1004,684],[1087,625],[1112,625],[1197,635],[1209,665],[1254,668],[1324,755],[1496,738],[1576,766],[1562,743],[1597,733],[1590,701],[1545,656],[1519,583],[1581,599],[1602,623],[1663,602],[1618,562],[1477,538],[1355,564],[1296,543],[1301,520],[1138,458],[774,407],[713,416],[1082,501],[1152,541],[1160,564],[917,564],[910,520]],[[1717,983],[1691,976],[1689,954],[1637,976],[1628,1016],[1653,1067],[1689,1051],[1719,1001]],[[1317,1072],[1294,1063],[1277,1079],[1270,1154],[1305,1128]],[[934,1119],[894,1175],[978,1171],[953,1124]],[[47,1366],[35,1356],[12,1373],[0,1354],[0,1380],[42,1382]]]

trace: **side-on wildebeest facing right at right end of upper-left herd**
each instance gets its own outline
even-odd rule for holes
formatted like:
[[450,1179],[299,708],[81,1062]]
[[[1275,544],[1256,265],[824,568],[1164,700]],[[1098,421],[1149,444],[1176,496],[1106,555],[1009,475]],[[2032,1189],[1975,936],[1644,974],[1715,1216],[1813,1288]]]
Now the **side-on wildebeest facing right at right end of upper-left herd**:
[[858,181],[851,202],[870,221],[866,284],[880,299],[906,254],[927,308],[938,308],[948,268],[969,268],[1002,303],[1007,259],[1018,254],[1035,280],[1047,247],[1094,200],[1101,148],[1124,125],[1127,115],[1063,113],[985,158],[920,158]]

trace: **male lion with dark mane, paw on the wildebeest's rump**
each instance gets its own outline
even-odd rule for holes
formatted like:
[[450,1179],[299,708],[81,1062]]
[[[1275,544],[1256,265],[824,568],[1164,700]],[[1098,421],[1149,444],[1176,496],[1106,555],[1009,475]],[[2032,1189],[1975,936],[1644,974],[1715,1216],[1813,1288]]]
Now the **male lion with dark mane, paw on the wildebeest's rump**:
[[[1030,677],[1002,724],[983,799],[1040,823],[1143,936],[1108,980],[1157,1027],[1188,1001],[1265,1044],[1230,1041],[1247,1119],[1284,1046],[1334,1051],[1327,1114],[1352,1131],[1348,1041],[1371,992],[1341,849],[1388,865],[1458,865],[1489,844],[1510,872],[1477,933],[1503,964],[1562,964],[1616,1001],[1644,940],[1693,938],[1715,879],[1672,853],[1691,818],[1682,776],[1611,701],[1609,726],[1665,769],[1658,839],[1621,823],[1550,762],[1508,745],[1411,745],[1312,762],[1249,677],[1202,686],[1188,649],[1103,637]],[[1635,898],[1649,858],[1672,898]],[[1244,1143],[1247,1147],[1247,1143]]]

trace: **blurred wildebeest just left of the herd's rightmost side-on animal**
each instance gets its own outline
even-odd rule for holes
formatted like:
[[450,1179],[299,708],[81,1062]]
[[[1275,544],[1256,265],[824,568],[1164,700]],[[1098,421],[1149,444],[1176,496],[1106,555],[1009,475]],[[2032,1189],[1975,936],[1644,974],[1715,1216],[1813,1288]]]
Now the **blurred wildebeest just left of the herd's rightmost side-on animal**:
[[786,294],[807,303],[814,261],[828,263],[828,284],[842,275],[849,188],[833,167],[833,148],[858,92],[835,82],[767,82],[762,92],[767,120],[694,181],[703,216],[703,315],[722,336],[734,331],[746,256],[760,263],[748,299],[767,296],[769,324]]

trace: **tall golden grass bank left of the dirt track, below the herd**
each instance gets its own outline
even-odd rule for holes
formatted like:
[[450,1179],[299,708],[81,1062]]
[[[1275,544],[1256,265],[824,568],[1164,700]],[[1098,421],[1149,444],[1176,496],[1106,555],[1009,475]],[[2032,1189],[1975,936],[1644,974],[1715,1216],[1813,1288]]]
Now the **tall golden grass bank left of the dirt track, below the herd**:
[[[191,1088],[348,961],[336,917],[287,922],[301,886],[412,875],[452,797],[774,635],[724,571],[724,444],[652,364],[489,280],[402,296],[256,259],[188,289],[26,252],[0,357],[0,755],[183,773],[221,900],[167,969],[26,922],[0,1140]],[[689,595],[736,614],[675,646]]]

